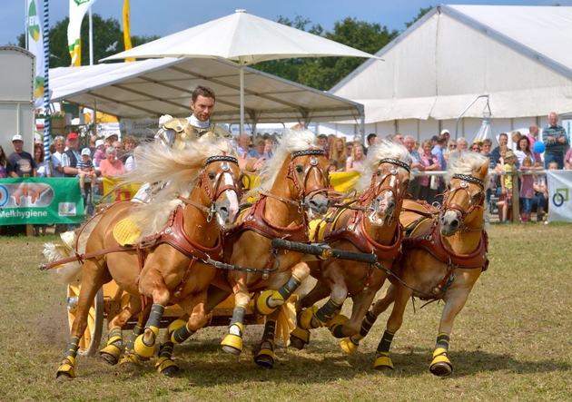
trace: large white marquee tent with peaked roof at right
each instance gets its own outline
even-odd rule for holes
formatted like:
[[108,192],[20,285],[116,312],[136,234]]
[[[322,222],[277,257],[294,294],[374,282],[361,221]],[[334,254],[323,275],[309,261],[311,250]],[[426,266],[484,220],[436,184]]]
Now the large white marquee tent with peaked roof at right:
[[[488,95],[493,131],[572,113],[572,7],[438,5],[330,90],[365,106],[366,132],[429,138]],[[459,136],[481,125],[486,98]],[[340,131],[355,131],[353,125]]]

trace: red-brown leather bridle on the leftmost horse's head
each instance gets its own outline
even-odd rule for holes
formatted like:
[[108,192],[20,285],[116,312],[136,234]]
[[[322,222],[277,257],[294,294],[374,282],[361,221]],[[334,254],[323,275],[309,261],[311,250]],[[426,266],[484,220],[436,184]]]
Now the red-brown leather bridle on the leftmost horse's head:
[[[207,166],[213,162],[222,162],[221,171],[216,173],[213,184],[211,180],[207,177]],[[229,182],[223,181],[226,175],[231,175],[232,177],[232,167],[231,163],[234,163],[238,167],[238,160],[233,156],[229,155],[215,155],[207,158],[204,163],[202,163],[202,172],[199,175],[199,180],[197,181],[196,187],[203,188],[205,194],[209,199],[210,205],[205,206],[198,204],[192,200],[185,197],[179,196],[179,199],[189,205],[198,208],[201,211],[208,213],[207,222],[212,221],[212,217],[216,213],[216,201],[221,196],[224,191],[230,190],[236,193],[237,199],[240,200],[242,197],[242,182],[235,181],[234,178]]]

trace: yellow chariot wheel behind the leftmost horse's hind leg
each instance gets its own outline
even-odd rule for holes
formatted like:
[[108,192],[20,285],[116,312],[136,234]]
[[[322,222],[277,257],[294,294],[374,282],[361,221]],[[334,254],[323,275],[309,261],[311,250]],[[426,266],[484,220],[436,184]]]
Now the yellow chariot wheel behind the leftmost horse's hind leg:
[[[67,287],[67,319],[70,330],[72,329],[72,325],[74,325],[79,292],[79,286],[69,285]],[[87,328],[85,328],[84,336],[80,339],[78,354],[94,356],[95,352],[99,349],[103,329],[104,289],[99,289],[87,315]]]

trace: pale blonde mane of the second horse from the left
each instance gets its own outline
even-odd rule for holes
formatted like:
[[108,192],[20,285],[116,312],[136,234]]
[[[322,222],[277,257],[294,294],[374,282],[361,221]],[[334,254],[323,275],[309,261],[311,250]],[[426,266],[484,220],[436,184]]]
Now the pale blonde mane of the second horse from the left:
[[290,158],[292,152],[306,150],[321,150],[321,146],[317,144],[316,134],[306,129],[284,130],[276,148],[272,151],[271,159],[262,168],[261,184],[257,189],[253,189],[254,192],[270,190],[286,158]]

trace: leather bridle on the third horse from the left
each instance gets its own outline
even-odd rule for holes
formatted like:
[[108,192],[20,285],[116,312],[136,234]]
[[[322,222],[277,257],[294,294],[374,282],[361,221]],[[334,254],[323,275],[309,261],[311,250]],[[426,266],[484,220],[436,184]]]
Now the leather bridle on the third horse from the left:
[[[409,182],[408,182],[406,183],[403,191],[401,191],[401,193],[399,194],[398,187],[401,181],[399,181],[399,177],[397,177],[399,174],[399,168],[402,168],[406,170],[408,173],[410,173],[409,164],[392,158],[384,158],[380,161],[380,165],[386,163],[391,165],[390,169],[386,171],[386,170],[380,170],[380,168],[378,167],[378,169],[371,175],[370,188],[363,193],[360,199],[361,204],[365,204],[366,201],[370,200],[370,204],[366,207],[366,211],[370,212],[370,215],[372,215],[373,213],[375,213],[375,211],[377,211],[375,204],[379,202],[378,197],[383,191],[390,191],[393,194],[393,198],[396,204],[400,205],[403,202],[403,198],[405,197],[405,194],[407,193],[407,190],[409,188]],[[380,171],[383,172],[382,175],[380,175],[381,173]],[[393,185],[391,184],[384,185],[384,183],[388,179],[394,176],[396,176],[396,180],[393,181]],[[393,221],[393,216],[389,217],[388,224],[390,224],[391,221]]]

